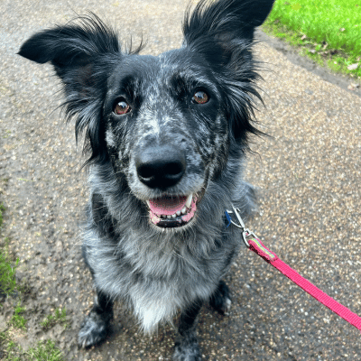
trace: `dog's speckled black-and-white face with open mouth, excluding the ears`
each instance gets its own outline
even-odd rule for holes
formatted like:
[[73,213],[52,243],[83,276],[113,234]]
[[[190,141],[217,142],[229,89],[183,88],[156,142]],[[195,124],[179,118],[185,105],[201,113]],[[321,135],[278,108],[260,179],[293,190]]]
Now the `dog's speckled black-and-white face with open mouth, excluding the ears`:
[[125,57],[109,78],[106,147],[157,227],[189,225],[227,159],[229,123],[218,80],[188,49]]

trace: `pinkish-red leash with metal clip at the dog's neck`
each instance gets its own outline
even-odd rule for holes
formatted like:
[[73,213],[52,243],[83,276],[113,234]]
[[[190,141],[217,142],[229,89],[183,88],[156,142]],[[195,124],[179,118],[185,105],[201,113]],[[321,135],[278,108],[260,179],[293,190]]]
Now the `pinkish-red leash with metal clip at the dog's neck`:
[[[245,228],[245,224],[239,215],[239,209],[235,208],[233,205],[232,208],[233,211],[226,211],[226,217],[229,222],[228,226],[233,224],[236,227],[242,229],[242,237],[245,241],[245,245],[247,245],[251,251],[255,252],[256,255],[261,256],[268,264],[272,264],[274,268],[283,273],[292,282],[295,282],[298,286],[301,287],[302,290],[309,293],[317,301],[328,307],[329,310],[337,313],[338,316],[340,316],[342,319],[347,320],[347,322],[352,326],[355,326],[356,329],[361,330],[361,317],[356,315],[356,313],[352,312],[351,310],[348,310],[347,307],[334,300],[327,293],[319,290],[318,287],[302,277],[300,273],[297,273],[288,264],[285,264],[282,260],[280,260],[277,255],[264,246],[264,244],[255,236],[253,232]],[[239,225],[236,224],[232,218],[230,218],[229,213],[234,213],[236,215]]]

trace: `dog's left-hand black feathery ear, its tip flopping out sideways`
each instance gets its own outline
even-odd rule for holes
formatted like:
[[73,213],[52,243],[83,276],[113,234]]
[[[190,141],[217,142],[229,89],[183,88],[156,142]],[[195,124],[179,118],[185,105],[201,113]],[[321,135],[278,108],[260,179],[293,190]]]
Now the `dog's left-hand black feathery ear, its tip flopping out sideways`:
[[[122,59],[116,33],[94,14],[38,32],[23,43],[19,55],[54,66],[62,80],[68,119],[76,116],[76,136],[86,131],[84,150],[90,159],[103,158],[104,129],[101,112],[108,75]],[[104,152],[104,151],[103,151]]]

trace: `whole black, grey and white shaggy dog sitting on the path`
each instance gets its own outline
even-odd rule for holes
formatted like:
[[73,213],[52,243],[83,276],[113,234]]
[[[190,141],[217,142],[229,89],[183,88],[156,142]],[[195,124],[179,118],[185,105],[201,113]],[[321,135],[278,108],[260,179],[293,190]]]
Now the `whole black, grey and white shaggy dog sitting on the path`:
[[79,345],[101,343],[113,302],[125,300],[145,332],[180,310],[174,360],[199,360],[196,319],[204,302],[230,304],[221,279],[241,243],[224,211],[244,215],[242,180],[260,98],[252,46],[273,0],[202,0],[188,11],[180,49],[122,52],[97,16],[36,33],[19,51],[51,61],[69,117],[89,153],[83,255],[97,288]]

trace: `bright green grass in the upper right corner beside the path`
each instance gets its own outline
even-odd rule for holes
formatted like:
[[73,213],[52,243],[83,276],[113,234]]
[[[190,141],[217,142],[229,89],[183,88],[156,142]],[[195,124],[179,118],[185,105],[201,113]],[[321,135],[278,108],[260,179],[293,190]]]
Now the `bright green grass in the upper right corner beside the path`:
[[264,30],[335,71],[361,77],[361,0],[276,0]]

